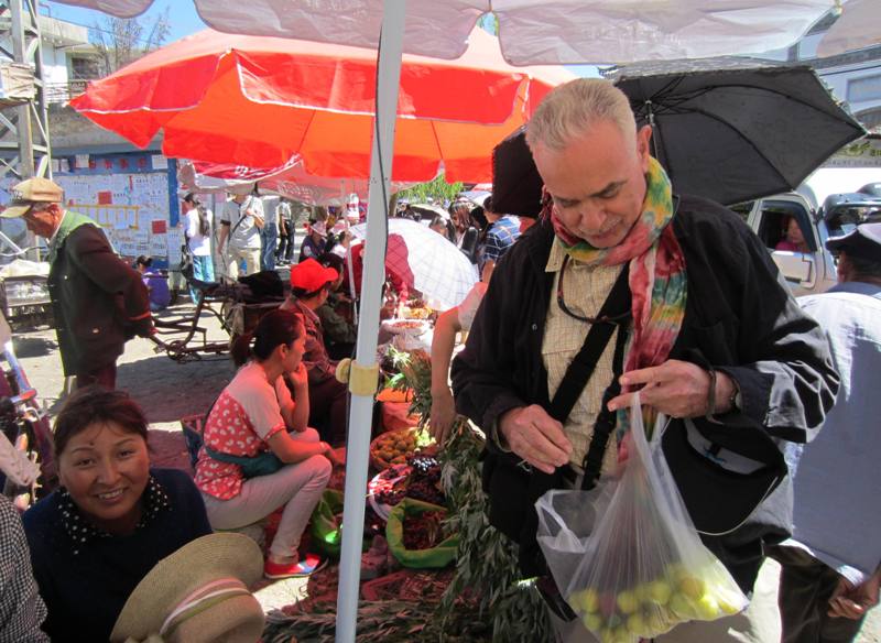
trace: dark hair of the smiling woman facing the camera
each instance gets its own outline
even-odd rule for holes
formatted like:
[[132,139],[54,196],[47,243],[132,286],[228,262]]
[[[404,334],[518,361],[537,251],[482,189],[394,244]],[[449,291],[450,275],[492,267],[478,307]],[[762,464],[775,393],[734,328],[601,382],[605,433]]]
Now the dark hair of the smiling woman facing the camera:
[[141,407],[124,391],[108,391],[100,385],[86,386],[74,392],[55,418],[53,451],[57,458],[67,443],[93,424],[115,423],[126,433],[134,433],[146,440],[146,417]]

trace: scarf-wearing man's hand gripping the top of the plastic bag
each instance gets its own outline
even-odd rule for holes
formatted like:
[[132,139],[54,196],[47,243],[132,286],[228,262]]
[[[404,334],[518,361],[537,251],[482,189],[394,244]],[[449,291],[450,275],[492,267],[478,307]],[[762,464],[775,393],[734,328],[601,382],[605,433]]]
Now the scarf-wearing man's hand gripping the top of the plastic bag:
[[[624,373],[622,386],[639,386],[640,403],[654,407],[670,417],[699,417],[707,413],[710,377],[692,362],[667,360],[661,366]],[[726,373],[716,372],[716,412],[729,411],[728,403],[735,384]],[[627,408],[635,393],[612,397],[610,411]]]

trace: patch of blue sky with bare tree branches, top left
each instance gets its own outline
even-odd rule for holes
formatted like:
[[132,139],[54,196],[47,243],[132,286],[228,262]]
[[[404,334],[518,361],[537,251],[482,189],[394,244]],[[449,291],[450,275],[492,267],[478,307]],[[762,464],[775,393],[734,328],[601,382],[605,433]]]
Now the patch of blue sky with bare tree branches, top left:
[[102,73],[112,74],[160,47],[171,31],[170,11],[171,8],[166,7],[152,22],[145,17],[122,19],[109,15],[96,22],[89,30],[90,40],[98,50]]

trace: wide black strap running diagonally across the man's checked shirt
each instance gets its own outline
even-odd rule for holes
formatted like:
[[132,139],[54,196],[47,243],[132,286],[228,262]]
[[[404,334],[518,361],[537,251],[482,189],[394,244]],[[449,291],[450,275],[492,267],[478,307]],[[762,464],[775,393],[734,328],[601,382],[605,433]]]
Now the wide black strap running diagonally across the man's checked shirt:
[[[598,318],[610,318],[605,322],[597,322],[591,327],[581,346],[581,350],[573,358],[569,368],[566,369],[566,374],[563,375],[563,381],[551,401],[551,408],[548,411],[551,417],[557,422],[566,422],[566,418],[572,413],[575,403],[581,395],[587,381],[594,374],[594,369],[597,367],[602,351],[614,334],[616,327],[619,325],[623,328],[630,320],[630,285],[628,283],[629,268],[624,264],[621,274],[614,282],[609,296],[600,308]],[[558,279],[563,279],[563,273]],[[620,317],[621,313],[627,313],[624,317]],[[612,320],[613,318],[613,320]]]

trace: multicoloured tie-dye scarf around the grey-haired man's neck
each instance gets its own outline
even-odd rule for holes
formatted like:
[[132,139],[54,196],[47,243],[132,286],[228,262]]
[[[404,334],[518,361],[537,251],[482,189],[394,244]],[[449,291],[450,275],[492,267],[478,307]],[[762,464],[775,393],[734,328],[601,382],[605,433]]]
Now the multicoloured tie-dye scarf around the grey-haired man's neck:
[[[550,214],[555,242],[572,259],[589,265],[630,262],[633,329],[628,340],[624,372],[663,363],[685,318],[685,257],[670,225],[674,215],[673,190],[666,172],[655,159],[650,159],[645,183],[642,215],[624,240],[613,248],[594,248],[570,235],[550,199],[542,212],[543,216]],[[622,410],[618,414],[619,434],[627,425],[627,414]]]

